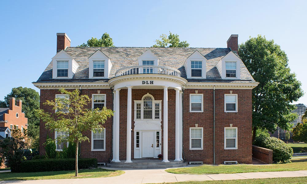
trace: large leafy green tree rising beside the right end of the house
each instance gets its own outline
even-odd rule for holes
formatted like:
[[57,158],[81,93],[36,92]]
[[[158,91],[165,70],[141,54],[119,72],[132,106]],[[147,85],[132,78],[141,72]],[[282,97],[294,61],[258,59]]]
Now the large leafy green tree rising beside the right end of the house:
[[297,118],[291,105],[303,96],[301,82],[290,72],[288,57],[274,40],[258,35],[239,45],[239,56],[259,85],[253,89],[253,140],[257,128],[289,130]]

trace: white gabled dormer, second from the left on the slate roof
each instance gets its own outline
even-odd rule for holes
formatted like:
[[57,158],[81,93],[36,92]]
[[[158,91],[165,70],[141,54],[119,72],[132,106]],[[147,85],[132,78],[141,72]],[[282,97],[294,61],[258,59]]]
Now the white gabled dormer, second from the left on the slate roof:
[[108,79],[112,68],[111,60],[100,50],[97,50],[88,58],[88,78]]

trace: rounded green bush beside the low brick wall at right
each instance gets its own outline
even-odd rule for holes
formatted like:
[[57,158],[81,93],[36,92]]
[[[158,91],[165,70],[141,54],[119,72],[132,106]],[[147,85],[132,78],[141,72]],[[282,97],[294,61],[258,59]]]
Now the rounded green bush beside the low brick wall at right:
[[273,161],[275,163],[290,162],[293,155],[293,149],[276,137],[267,137],[262,134],[258,135],[254,141],[254,145],[273,150]]

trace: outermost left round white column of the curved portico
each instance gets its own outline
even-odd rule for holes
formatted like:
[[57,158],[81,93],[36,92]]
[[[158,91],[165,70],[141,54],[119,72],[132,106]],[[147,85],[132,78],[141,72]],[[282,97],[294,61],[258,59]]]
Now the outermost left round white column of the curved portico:
[[116,101],[115,101],[115,160],[114,162],[120,162],[119,160],[119,90],[116,89]]

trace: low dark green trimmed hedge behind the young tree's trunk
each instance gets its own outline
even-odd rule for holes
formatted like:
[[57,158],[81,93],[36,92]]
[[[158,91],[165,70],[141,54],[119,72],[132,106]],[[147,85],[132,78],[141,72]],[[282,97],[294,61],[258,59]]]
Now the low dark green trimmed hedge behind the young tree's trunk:
[[[97,167],[97,159],[78,159],[79,169]],[[22,162],[18,172],[72,171],[75,159],[36,159]]]

